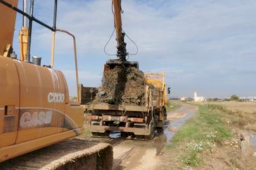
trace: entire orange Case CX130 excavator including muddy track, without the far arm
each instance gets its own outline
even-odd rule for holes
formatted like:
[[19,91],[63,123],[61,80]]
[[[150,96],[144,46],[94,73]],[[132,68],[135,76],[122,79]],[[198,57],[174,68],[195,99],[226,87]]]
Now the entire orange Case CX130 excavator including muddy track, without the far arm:
[[[76,81],[79,84],[75,36],[56,28],[57,0],[52,3],[53,26],[49,26],[33,16],[33,0],[30,1],[29,14],[26,0],[23,1],[23,10],[17,8],[18,0],[0,0],[0,163],[3,162],[0,169],[112,169],[112,146],[84,140],[65,141],[84,131],[84,109],[77,101],[69,100],[64,74],[53,69],[55,33],[67,33],[73,38]],[[17,12],[23,15],[19,58],[13,49]],[[32,23],[52,31],[50,65],[41,66],[42,58],[30,55]],[[43,148],[41,154],[33,154],[32,151],[40,148]],[[32,154],[26,155],[28,152]],[[20,155],[23,157],[16,158]]]

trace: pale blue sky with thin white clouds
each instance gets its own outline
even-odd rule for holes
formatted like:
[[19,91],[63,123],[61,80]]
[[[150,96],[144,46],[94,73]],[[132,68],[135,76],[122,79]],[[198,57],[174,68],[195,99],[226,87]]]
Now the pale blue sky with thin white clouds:
[[[59,1],[57,28],[77,39],[79,78],[84,86],[99,86],[102,69],[110,58],[104,45],[113,29],[111,0]],[[138,47],[144,72],[166,72],[171,96],[256,96],[256,1],[255,0],[123,0],[123,29]],[[19,7],[22,7],[20,1]],[[52,25],[53,1],[35,1],[35,17]],[[15,40],[22,20],[18,16]],[[51,31],[33,25],[31,55],[49,65]],[[135,52],[128,40],[127,50]],[[18,51],[18,41],[14,41]],[[115,40],[107,47],[115,53]],[[71,37],[57,33],[55,69],[68,80],[70,95],[76,94]]]

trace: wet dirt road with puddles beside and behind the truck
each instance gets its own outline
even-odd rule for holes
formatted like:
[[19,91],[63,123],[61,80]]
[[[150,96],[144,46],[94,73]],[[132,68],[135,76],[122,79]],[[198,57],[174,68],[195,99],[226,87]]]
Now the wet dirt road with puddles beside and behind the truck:
[[157,133],[151,141],[137,139],[110,139],[92,137],[93,141],[110,143],[114,148],[113,169],[159,169],[160,157],[164,146],[174,136],[175,131],[195,113],[196,107],[183,105],[176,111],[168,113],[164,131]]

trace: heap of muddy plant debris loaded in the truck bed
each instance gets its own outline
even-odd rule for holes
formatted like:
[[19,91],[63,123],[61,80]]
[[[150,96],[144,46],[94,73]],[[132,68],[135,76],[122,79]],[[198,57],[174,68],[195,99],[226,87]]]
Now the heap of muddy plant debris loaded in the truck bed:
[[135,67],[115,66],[102,76],[101,87],[92,103],[145,104],[146,83],[144,73]]

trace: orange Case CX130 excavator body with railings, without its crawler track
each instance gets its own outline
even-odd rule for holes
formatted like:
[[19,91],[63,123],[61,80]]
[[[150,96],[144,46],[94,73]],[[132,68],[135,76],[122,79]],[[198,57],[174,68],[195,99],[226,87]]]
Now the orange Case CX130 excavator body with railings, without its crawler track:
[[[52,69],[55,32],[62,31],[56,29],[57,1],[53,27],[34,18],[34,1],[30,14],[17,5],[18,0],[0,1],[0,162],[80,135],[84,120],[80,105],[69,101],[64,74]],[[23,15],[20,59],[12,47],[16,12]],[[37,56],[31,61],[32,22],[53,32],[49,66],[40,66]]]

